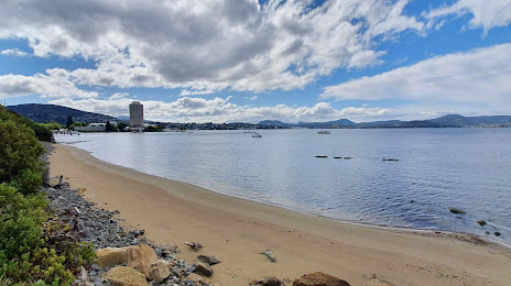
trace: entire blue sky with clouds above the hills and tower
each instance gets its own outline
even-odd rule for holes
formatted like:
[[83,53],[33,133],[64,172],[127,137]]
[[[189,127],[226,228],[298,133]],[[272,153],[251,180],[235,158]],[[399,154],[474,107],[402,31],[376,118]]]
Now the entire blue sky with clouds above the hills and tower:
[[2,0],[0,102],[165,122],[511,114],[511,0]]

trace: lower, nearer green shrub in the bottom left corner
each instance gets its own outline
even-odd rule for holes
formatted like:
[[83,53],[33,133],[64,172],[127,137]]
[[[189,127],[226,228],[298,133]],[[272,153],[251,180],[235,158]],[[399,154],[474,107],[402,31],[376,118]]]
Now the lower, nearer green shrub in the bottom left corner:
[[94,245],[78,242],[46,208],[43,195],[23,196],[0,185],[0,277],[7,284],[69,285],[73,272],[96,258]]

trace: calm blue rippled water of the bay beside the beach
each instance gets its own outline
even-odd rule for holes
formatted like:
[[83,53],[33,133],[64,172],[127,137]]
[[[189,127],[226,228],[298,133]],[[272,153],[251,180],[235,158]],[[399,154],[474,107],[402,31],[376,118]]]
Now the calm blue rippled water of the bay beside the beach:
[[[316,216],[480,235],[499,231],[498,240],[511,243],[511,129],[259,133],[261,139],[242,131],[56,139],[109,163]],[[467,215],[457,218],[449,207]]]

